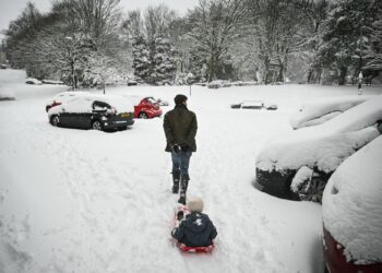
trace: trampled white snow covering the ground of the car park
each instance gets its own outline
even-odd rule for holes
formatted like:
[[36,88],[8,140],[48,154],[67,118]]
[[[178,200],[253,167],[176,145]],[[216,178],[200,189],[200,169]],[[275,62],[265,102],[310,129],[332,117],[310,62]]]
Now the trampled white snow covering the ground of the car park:
[[[13,86],[0,102],[0,272],[320,272],[321,206],[280,200],[252,187],[264,142],[291,131],[305,98],[356,87],[192,87],[199,121],[189,195],[204,199],[217,227],[211,254],[180,253],[170,239],[177,197],[163,119],[116,133],[55,128],[45,103],[64,86]],[[124,86],[109,94],[172,102],[188,86]],[[382,93],[365,87],[365,94]],[[278,110],[230,109],[262,99]],[[164,107],[167,111],[174,106]]]

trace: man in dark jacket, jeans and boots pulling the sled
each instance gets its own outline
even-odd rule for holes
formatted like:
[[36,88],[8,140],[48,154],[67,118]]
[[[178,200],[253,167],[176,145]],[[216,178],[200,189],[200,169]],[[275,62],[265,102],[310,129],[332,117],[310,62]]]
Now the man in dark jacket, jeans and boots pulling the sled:
[[176,95],[175,108],[166,112],[164,130],[166,134],[166,152],[172,159],[172,192],[179,192],[178,202],[186,204],[186,191],[189,185],[189,165],[192,152],[196,152],[195,135],[198,131],[196,115],[187,108],[187,96]]

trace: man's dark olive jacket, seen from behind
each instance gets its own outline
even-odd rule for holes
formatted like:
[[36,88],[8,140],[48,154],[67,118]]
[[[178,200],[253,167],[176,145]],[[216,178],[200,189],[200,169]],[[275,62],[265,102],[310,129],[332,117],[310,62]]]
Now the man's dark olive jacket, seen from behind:
[[187,109],[184,105],[177,105],[166,112],[163,128],[166,134],[166,152],[171,152],[171,145],[189,146],[196,152],[195,135],[198,131],[196,115]]

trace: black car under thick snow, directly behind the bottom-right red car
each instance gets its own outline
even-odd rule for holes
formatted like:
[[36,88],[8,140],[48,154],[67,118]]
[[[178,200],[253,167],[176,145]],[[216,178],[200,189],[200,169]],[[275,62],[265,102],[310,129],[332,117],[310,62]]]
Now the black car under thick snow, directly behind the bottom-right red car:
[[321,202],[333,171],[381,134],[382,95],[337,117],[271,140],[256,156],[255,188],[291,200]]

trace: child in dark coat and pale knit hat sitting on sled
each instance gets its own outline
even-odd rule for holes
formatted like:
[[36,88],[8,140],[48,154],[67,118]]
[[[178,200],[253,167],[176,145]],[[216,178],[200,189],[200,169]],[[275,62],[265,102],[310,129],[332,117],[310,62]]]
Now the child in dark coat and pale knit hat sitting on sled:
[[171,236],[186,247],[213,246],[217,232],[208,215],[202,213],[203,200],[191,198],[187,207],[190,213],[172,229]]

